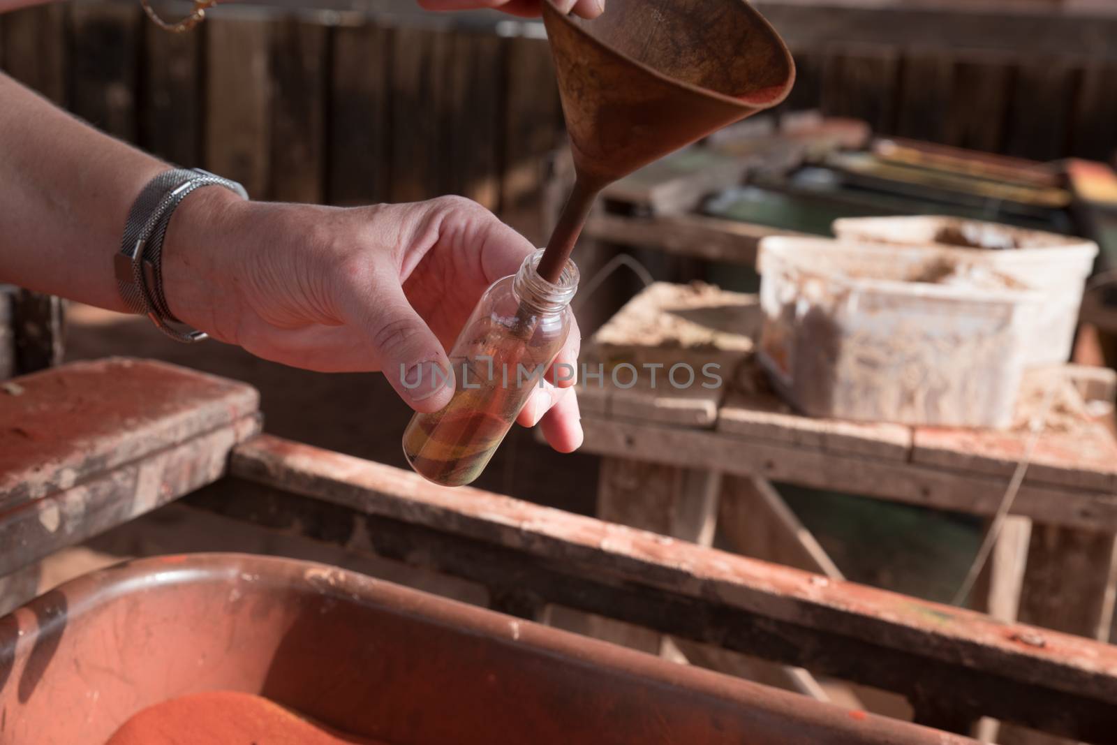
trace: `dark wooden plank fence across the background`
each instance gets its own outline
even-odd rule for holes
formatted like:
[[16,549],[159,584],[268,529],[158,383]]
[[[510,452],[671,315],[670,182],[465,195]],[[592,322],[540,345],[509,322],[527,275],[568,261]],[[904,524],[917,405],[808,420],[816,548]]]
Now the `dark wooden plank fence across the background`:
[[[757,4],[795,50],[784,111],[1035,159],[1117,149],[1115,18]],[[228,6],[171,35],[137,2],[55,3],[0,17],[0,60],[103,130],[256,198],[459,193],[537,240],[546,155],[563,141],[546,42],[431,20],[442,26]]]

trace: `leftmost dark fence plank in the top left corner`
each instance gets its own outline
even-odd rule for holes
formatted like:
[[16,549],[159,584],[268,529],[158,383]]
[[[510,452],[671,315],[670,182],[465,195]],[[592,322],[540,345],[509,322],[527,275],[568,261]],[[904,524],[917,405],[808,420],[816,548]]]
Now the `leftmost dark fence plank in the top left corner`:
[[50,3],[3,16],[3,68],[16,80],[58,105],[66,105],[66,7]]

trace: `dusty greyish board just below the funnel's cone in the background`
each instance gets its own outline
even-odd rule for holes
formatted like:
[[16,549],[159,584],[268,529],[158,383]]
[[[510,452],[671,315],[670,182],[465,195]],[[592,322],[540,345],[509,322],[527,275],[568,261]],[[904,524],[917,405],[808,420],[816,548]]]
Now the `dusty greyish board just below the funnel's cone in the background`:
[[601,195],[656,214],[678,213],[694,209],[712,192],[741,183],[748,166],[746,159],[690,146],[610,184]]

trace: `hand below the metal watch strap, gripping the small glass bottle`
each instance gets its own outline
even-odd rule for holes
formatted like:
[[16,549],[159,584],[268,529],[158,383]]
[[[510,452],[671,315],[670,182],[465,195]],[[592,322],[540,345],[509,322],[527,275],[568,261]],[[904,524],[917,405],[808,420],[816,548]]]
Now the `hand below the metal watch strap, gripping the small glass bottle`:
[[[427,365],[448,367],[446,350],[481,294],[533,250],[458,197],[342,209],[246,202],[209,188],[175,212],[163,279],[172,313],[214,338],[308,370],[383,371],[409,405],[437,411],[454,385]],[[574,326],[556,364],[576,364],[580,341]],[[409,389],[401,371],[413,381],[416,365],[423,384]],[[569,376],[536,390],[518,419],[542,420],[563,452],[582,442]]]

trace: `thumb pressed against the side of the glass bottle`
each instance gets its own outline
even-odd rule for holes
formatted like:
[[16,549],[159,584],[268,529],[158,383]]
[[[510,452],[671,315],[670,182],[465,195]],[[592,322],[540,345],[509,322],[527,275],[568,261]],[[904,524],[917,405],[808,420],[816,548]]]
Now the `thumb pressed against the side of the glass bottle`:
[[372,345],[372,356],[403,401],[421,412],[438,411],[454,395],[454,369],[399,281],[374,281],[352,308],[351,323]]

